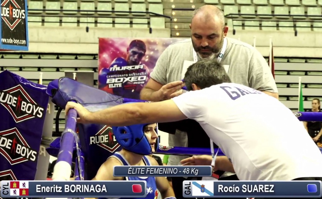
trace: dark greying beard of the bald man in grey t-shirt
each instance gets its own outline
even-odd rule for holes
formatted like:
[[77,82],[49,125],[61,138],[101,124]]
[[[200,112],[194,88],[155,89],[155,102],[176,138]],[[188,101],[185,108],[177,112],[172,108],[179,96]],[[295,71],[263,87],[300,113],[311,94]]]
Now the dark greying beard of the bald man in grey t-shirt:
[[[194,48],[194,51],[196,51],[196,53],[199,55],[199,57],[201,59],[214,59],[216,57],[218,57],[220,51],[223,48],[223,35],[221,40],[214,46],[214,47],[210,47],[210,46],[206,46],[206,47],[197,47],[196,44],[194,43],[194,41],[191,38],[192,41],[192,46]],[[209,50],[207,52],[203,52],[201,50]]]

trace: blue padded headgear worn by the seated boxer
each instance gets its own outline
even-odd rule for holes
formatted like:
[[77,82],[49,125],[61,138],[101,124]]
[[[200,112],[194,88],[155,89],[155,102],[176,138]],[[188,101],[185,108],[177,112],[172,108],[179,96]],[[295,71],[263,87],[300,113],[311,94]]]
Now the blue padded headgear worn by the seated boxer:
[[[148,124],[135,124],[131,126],[113,126],[113,134],[122,148],[140,155],[150,155],[159,148],[159,139],[154,144],[155,152],[144,134],[144,127]],[[156,133],[157,129],[156,129]]]

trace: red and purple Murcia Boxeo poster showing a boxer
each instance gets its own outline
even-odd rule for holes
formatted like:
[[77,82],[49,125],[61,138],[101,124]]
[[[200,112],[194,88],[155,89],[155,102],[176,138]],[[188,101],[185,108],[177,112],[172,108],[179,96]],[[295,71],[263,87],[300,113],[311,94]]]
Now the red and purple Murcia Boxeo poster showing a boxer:
[[99,38],[99,89],[140,99],[161,53],[183,38]]

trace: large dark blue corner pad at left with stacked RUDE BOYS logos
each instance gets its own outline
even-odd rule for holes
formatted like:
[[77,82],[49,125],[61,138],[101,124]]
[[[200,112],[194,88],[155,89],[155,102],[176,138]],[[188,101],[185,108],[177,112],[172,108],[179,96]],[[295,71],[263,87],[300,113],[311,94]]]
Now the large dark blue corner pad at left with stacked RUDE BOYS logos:
[[48,101],[46,86],[0,73],[0,181],[35,179]]

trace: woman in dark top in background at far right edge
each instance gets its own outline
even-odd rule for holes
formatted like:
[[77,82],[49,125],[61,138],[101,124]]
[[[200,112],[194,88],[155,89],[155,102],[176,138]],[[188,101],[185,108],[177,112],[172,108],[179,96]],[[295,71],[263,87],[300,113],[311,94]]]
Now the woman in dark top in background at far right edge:
[[[320,100],[315,98],[312,100],[312,109],[308,110],[308,112],[321,112],[320,108]],[[304,122],[304,126],[315,143],[320,141],[322,122]]]

